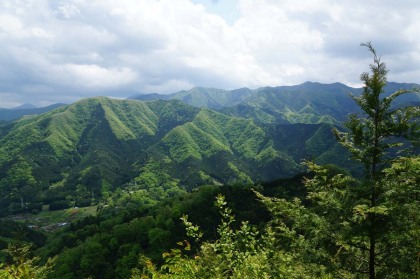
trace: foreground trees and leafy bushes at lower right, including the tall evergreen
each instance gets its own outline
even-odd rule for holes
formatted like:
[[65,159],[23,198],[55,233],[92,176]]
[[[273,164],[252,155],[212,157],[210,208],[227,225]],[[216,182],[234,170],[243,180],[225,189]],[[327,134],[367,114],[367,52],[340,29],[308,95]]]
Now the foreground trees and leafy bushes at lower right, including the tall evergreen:
[[[194,258],[174,249],[160,271],[143,259],[133,278],[413,278],[420,276],[419,107],[393,107],[410,92],[383,97],[388,70],[370,43],[371,73],[363,73],[364,90],[352,96],[362,110],[351,115],[339,142],[361,162],[361,179],[337,167],[307,165],[305,201],[258,198],[272,213],[261,231],[243,223],[237,230],[223,197],[218,197],[222,224],[219,238],[204,242]],[[418,92],[418,89],[411,91]],[[414,147],[414,148],[413,148]],[[407,152],[411,151],[411,152]],[[183,219],[189,236],[198,227]]]

